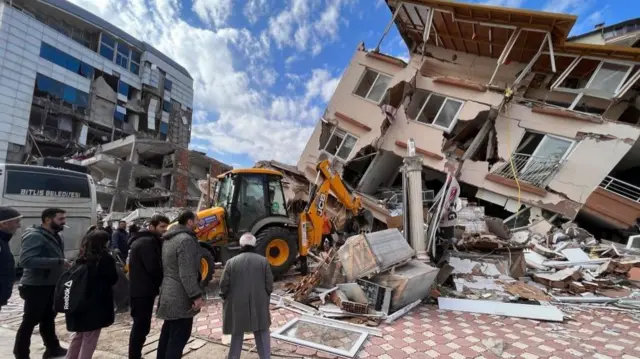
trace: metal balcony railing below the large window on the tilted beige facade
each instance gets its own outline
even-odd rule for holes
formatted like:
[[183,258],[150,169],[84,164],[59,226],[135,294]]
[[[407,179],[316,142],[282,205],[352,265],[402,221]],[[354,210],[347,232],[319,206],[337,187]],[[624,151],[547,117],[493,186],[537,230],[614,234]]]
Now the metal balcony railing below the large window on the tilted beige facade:
[[[562,165],[562,160],[549,157],[535,157],[522,153],[511,155],[513,170],[509,161],[498,167],[492,173],[504,178],[526,182],[539,188],[544,188],[551,177],[556,174]],[[514,170],[516,176],[514,176]]]

